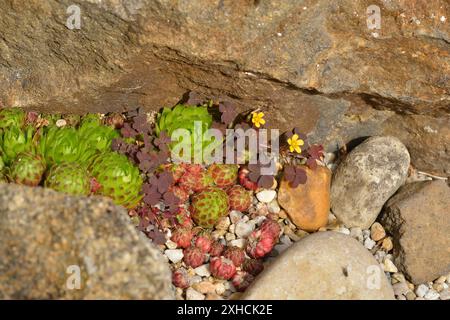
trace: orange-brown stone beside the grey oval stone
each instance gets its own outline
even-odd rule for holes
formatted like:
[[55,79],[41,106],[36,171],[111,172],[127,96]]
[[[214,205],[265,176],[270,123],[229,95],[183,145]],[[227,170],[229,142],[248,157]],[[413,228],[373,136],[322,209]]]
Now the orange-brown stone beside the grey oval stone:
[[331,172],[322,166],[318,166],[316,170],[306,166],[303,168],[308,177],[306,184],[291,188],[283,179],[278,191],[278,203],[297,227],[317,231],[328,222]]

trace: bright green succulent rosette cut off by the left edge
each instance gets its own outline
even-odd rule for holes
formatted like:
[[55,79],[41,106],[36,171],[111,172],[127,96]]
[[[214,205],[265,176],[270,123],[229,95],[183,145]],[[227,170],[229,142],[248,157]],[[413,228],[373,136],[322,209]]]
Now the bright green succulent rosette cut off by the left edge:
[[0,156],[9,165],[21,152],[35,152],[34,128],[11,126],[0,133]]

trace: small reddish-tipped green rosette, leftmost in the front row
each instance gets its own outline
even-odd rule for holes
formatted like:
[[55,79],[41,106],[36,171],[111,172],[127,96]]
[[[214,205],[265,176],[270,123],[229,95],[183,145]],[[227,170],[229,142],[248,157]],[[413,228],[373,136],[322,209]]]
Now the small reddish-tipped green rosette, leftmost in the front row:
[[41,182],[45,169],[45,161],[40,155],[24,152],[12,162],[9,177],[14,183],[35,187]]

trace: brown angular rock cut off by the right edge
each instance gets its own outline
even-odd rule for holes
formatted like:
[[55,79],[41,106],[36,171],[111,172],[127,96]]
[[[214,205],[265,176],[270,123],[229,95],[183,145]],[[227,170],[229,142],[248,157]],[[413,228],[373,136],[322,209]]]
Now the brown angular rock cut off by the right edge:
[[450,187],[407,184],[386,204],[381,221],[394,238],[396,266],[415,283],[450,271]]

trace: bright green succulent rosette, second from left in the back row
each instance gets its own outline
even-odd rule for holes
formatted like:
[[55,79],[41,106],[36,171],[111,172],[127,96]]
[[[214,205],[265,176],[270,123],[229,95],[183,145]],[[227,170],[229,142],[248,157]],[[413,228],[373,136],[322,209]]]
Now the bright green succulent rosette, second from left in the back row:
[[79,161],[85,147],[76,129],[50,127],[41,137],[39,151],[47,164],[53,165]]

